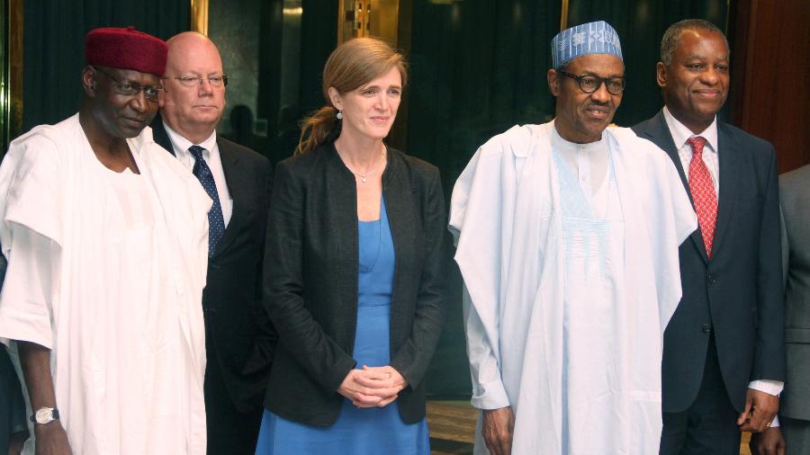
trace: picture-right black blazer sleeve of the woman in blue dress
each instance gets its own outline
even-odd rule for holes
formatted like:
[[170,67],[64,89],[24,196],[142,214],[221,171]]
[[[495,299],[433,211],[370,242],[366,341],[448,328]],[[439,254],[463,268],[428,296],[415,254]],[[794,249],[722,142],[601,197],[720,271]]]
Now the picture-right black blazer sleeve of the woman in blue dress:
[[411,388],[419,386],[428,370],[444,321],[447,232],[445,197],[437,170],[431,174],[427,186],[423,206],[425,261],[419,278],[416,314],[408,341],[392,356],[391,361],[392,368],[408,379]]

